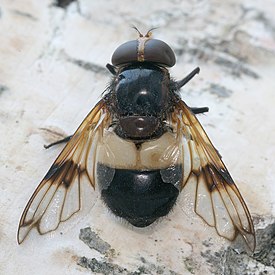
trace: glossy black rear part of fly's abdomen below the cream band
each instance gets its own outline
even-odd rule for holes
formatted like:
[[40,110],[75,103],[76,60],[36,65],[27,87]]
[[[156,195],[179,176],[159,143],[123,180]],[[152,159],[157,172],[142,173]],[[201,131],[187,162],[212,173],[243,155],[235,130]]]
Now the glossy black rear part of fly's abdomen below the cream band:
[[[101,169],[104,165],[98,167]],[[100,171],[98,175],[100,185]],[[101,190],[110,210],[136,227],[146,227],[167,215],[178,194],[173,184],[163,182],[160,170],[115,169],[111,183]]]

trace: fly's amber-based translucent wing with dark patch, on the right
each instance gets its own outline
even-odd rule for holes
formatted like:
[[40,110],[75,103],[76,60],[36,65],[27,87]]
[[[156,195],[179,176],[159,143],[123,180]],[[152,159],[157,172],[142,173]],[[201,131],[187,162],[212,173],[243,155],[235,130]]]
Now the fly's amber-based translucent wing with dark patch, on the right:
[[195,212],[229,240],[241,235],[254,251],[255,231],[248,208],[221,156],[196,116],[183,101],[173,112],[184,159],[181,188],[192,185]]

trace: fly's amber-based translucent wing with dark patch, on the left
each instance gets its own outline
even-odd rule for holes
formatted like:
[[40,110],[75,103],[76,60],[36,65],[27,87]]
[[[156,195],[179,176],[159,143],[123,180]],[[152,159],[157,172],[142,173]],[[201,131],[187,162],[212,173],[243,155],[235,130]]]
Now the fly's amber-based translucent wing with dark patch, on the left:
[[31,229],[36,228],[41,235],[48,233],[80,210],[83,179],[95,188],[94,151],[108,119],[101,100],[78,127],[27,203],[18,227],[19,244]]

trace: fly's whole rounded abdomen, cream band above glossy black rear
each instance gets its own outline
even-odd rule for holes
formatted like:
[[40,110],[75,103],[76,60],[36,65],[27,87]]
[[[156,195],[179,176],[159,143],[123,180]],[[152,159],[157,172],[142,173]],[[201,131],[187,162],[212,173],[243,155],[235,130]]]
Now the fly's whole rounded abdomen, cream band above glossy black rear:
[[104,133],[97,151],[97,184],[115,215],[146,227],[169,213],[183,177],[176,146],[172,133],[138,146],[114,132]]

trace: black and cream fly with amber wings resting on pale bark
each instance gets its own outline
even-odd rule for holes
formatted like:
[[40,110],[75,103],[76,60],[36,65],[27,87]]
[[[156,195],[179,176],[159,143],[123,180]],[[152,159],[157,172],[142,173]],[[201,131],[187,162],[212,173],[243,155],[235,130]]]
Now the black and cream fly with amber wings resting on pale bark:
[[113,76],[102,99],[27,203],[18,243],[33,228],[45,234],[78,212],[86,179],[116,216],[136,227],[167,215],[191,184],[196,214],[220,236],[241,235],[254,250],[249,210],[196,117],[208,108],[190,108],[179,95],[199,68],[172,80],[173,50],[151,31],[138,33],[113,53],[112,65],[106,65]]

